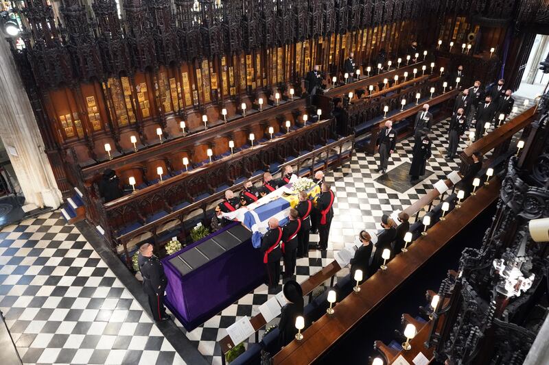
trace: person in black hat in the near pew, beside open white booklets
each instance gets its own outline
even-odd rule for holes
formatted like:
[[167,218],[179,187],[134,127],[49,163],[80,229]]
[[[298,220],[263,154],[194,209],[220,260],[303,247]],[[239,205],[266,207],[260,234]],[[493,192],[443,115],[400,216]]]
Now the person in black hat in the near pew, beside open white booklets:
[[279,321],[279,347],[285,347],[294,340],[296,318],[303,316],[303,290],[295,280],[289,280],[282,288],[284,297],[288,303],[281,309]]

